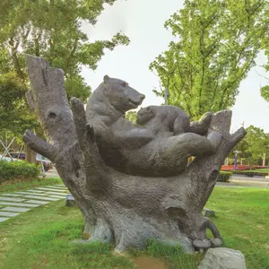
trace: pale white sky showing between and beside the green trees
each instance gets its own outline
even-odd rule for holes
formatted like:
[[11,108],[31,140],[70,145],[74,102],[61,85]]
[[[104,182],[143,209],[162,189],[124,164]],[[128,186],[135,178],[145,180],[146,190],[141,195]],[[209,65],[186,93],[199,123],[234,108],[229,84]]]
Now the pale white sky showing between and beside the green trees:
[[[184,0],[118,0],[116,4],[107,5],[93,27],[82,24],[90,41],[111,39],[118,31],[122,31],[131,40],[128,46],[119,46],[112,52],[105,51],[97,70],[82,68],[86,82],[95,90],[103,76],[108,74],[125,80],[135,90],[145,94],[143,107],[161,105],[163,100],[152,92],[159,88],[160,82],[156,74],[149,70],[149,65],[156,56],[168,49],[173,36],[164,28],[169,16],[183,7]],[[241,82],[236,104],[231,108],[233,117],[231,133],[242,123],[244,126],[254,125],[269,133],[269,103],[260,96],[260,87],[268,83],[265,77],[269,74],[260,65],[265,65],[263,53],[256,58],[247,78]]]

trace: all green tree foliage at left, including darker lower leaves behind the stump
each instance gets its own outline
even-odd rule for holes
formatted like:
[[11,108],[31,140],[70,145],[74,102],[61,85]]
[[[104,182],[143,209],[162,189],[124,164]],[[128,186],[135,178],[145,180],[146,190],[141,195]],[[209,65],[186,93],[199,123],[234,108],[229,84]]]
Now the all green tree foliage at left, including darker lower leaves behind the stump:
[[121,34],[111,40],[91,42],[82,32],[82,22],[95,24],[104,4],[115,0],[3,0],[0,1],[0,130],[21,135],[29,128],[42,130],[30,111],[29,90],[23,54],[44,57],[65,71],[68,98],[85,101],[91,87],[82,75],[82,65],[96,69],[106,49],[127,45]]

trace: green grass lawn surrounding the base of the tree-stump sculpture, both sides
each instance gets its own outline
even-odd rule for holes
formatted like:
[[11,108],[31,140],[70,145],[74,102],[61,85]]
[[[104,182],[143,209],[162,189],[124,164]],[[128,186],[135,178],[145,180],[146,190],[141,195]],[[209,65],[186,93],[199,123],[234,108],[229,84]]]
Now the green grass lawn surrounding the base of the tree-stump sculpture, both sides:
[[[242,251],[247,269],[269,268],[269,190],[216,187],[206,205],[214,210],[225,247]],[[196,269],[201,255],[152,242],[146,251],[126,256],[112,246],[68,244],[82,237],[83,221],[76,208],[54,202],[0,223],[1,269],[134,268],[137,256],[161,259],[167,268]]]

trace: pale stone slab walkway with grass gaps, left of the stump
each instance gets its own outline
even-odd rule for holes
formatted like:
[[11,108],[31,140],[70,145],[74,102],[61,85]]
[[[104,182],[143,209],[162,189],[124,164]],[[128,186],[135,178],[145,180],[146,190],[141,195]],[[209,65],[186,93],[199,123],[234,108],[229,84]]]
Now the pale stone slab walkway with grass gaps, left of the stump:
[[65,185],[53,185],[0,195],[0,222],[40,205],[65,199],[68,194]]

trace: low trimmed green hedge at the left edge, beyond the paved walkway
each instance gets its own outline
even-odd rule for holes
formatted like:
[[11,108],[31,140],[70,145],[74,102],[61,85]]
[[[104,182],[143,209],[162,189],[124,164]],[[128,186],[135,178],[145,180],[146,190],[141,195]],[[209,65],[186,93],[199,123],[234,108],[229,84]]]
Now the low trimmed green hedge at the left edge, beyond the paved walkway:
[[0,182],[13,179],[30,180],[38,178],[39,166],[26,161],[0,161]]

